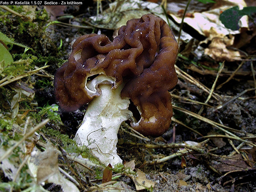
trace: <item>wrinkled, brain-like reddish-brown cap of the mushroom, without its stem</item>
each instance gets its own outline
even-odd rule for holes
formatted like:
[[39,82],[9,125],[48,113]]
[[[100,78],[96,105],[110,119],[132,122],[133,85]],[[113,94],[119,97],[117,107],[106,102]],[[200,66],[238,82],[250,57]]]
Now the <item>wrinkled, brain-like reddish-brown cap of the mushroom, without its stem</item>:
[[160,136],[171,123],[168,90],[177,84],[177,52],[178,44],[168,24],[152,14],[129,20],[113,42],[106,35],[83,35],[55,74],[57,103],[65,111],[87,104],[101,92],[88,95],[86,78],[106,74],[115,78],[113,88],[126,82],[121,96],[129,97],[141,113],[141,120],[132,127],[143,135]]

